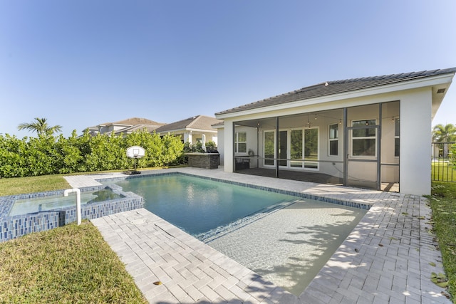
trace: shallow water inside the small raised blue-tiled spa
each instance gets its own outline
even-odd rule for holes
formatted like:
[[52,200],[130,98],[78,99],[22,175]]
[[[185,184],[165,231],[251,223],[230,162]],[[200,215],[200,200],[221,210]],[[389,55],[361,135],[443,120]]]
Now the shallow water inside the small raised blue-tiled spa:
[[[81,205],[91,204],[99,201],[107,201],[110,199],[118,199],[122,196],[115,194],[111,189],[100,189],[92,192],[81,192]],[[76,195],[68,196],[51,195],[42,197],[33,197],[27,199],[16,199],[14,201],[9,216],[21,214],[33,214],[41,211],[51,211],[61,209],[68,206],[76,205]]]

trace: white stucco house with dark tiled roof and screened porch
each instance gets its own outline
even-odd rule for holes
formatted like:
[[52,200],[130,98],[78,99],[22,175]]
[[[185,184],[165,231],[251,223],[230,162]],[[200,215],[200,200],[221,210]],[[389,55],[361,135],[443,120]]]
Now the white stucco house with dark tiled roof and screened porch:
[[[224,171],[326,174],[430,194],[432,118],[456,68],[328,81],[217,112]],[[240,163],[242,163],[240,162]]]

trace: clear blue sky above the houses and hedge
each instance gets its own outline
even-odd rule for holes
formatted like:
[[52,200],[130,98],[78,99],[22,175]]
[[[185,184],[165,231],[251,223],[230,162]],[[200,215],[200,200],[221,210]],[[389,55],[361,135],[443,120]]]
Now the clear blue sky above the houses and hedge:
[[[456,1],[0,0],[0,133],[175,122],[328,80],[456,67]],[[456,79],[432,125],[456,124]]]

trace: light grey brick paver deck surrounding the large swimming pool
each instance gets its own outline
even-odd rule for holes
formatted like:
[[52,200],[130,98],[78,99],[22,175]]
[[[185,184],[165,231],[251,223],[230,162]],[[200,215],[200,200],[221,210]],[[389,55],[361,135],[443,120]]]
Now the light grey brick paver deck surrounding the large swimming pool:
[[[182,279],[185,277],[183,274],[176,275],[177,278],[175,280],[170,280],[166,284],[160,285],[160,293],[157,293],[159,290],[156,285],[150,285],[150,280],[154,280],[154,278],[160,280],[159,276],[152,271],[152,269],[155,269],[156,263],[150,260],[150,256],[149,259],[145,258],[143,260],[144,256],[138,256],[138,253],[127,244],[133,239],[143,244],[145,242],[144,239],[138,240],[138,236],[142,236],[148,241],[150,239],[157,241],[160,238],[165,238],[168,235],[167,231],[154,231],[151,235],[151,225],[144,225],[145,227],[143,228],[149,233],[142,235],[142,232],[136,231],[136,229],[139,229],[138,225],[132,228],[130,227],[131,223],[129,224],[128,221],[120,221],[127,214],[132,214],[132,212],[136,212],[136,214],[139,212],[140,217],[147,219],[150,216],[150,212],[144,212],[142,209],[94,219],[93,223],[98,226],[108,243],[118,253],[122,261],[126,263],[127,269],[135,278],[135,282],[150,303],[164,303],[162,302],[164,300],[167,303],[178,303],[176,301],[181,303],[226,303],[227,301],[235,302],[236,300],[244,303],[390,303],[390,301],[401,303],[451,303],[450,300],[445,298],[445,290],[430,281],[430,273],[439,273],[443,272],[443,270],[441,254],[438,251],[435,236],[429,233],[432,228],[428,222],[430,209],[426,205],[427,199],[423,196],[280,180],[269,177],[251,177],[244,174],[223,172],[222,169],[179,168],[167,169],[166,172],[180,172],[232,182],[244,181],[260,187],[269,185],[276,189],[279,188],[284,191],[293,191],[325,199],[367,204],[371,206],[371,209],[368,210],[358,226],[343,241],[328,263],[323,266],[299,297],[287,293],[282,288],[274,286],[271,282],[262,281],[261,276],[255,273],[249,273],[247,276],[246,273],[249,271],[247,268],[240,271],[242,276],[236,276],[236,273],[230,271],[234,267],[233,265],[236,265],[232,264],[234,261],[223,256],[222,253],[213,252],[213,249],[210,250],[209,246],[191,236],[188,237],[183,231],[183,236],[180,236],[180,229],[176,228],[177,230],[175,230],[175,227],[167,222],[163,225],[174,227],[170,228],[173,234],[177,234],[181,238],[177,239],[175,237],[174,240],[176,242],[182,244],[196,243],[196,245],[186,247],[184,255],[178,253],[177,260],[171,258],[173,251],[164,253],[170,258],[170,261],[163,263],[165,268],[172,268],[177,273],[179,273],[178,270],[180,269],[188,274],[192,268],[192,263],[190,263],[190,266],[179,268],[182,258],[185,260],[185,256],[192,256],[192,253],[207,253],[209,258],[217,258],[208,260],[209,258],[206,257],[203,260],[211,261],[212,266],[209,266],[209,269],[214,271],[217,268],[219,271],[215,271],[218,275],[212,273],[213,277],[205,273],[211,280],[207,279],[209,281],[204,285],[202,285],[200,280],[197,280],[197,276],[193,275],[192,278],[195,278],[201,285],[197,285],[199,288],[195,287],[192,282],[186,281],[185,278]],[[143,173],[157,174],[159,172],[154,170],[152,173]],[[115,175],[111,174],[110,177],[116,177]],[[117,174],[117,177],[121,176]],[[86,183],[97,183],[97,180],[103,179],[103,177],[106,177],[106,175],[95,174],[85,176],[81,180]],[[71,177],[66,178],[70,184],[76,183]],[[103,221],[110,221],[110,224],[100,224]],[[119,221],[119,223],[115,224],[116,221]],[[153,222],[155,219],[150,221]],[[104,228],[103,225],[105,225]],[[129,231],[128,229],[135,229],[135,235],[128,236],[125,232]],[[120,232],[115,232],[116,230]],[[125,246],[130,248],[130,250],[126,250]],[[119,251],[115,248],[122,249]],[[133,246],[133,248],[138,249],[141,247],[137,243],[136,247]],[[146,252],[154,251],[156,248],[148,248]],[[138,261],[138,258],[140,261]],[[176,263],[176,261],[177,264],[170,266],[170,263]],[[198,261],[201,262],[201,260]],[[176,269],[176,267],[179,269]],[[239,266],[235,268],[237,267]],[[196,269],[201,270],[197,266]],[[207,278],[206,275],[204,275],[204,278]],[[149,284],[145,284],[145,276],[148,278],[147,282]],[[223,278],[220,278],[220,276]],[[236,283],[228,284],[226,282]]]

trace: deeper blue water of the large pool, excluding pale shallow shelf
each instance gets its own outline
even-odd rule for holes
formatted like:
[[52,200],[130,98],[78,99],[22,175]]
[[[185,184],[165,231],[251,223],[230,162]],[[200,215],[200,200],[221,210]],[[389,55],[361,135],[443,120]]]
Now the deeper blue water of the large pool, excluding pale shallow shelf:
[[184,175],[140,177],[115,184],[139,194],[145,199],[145,209],[193,236],[299,199]]

